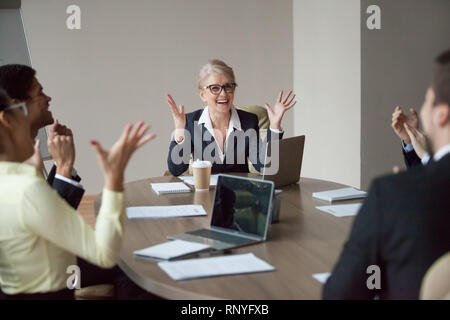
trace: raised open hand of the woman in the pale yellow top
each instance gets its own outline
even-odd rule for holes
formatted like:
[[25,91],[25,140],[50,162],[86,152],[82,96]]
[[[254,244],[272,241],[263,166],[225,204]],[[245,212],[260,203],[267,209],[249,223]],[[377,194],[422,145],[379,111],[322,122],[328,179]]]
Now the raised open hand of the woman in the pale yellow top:
[[104,150],[99,142],[91,141],[97,151],[107,189],[123,191],[124,172],[131,155],[156,137],[154,134],[145,135],[149,128],[144,122],[127,125],[119,140],[109,150]]

